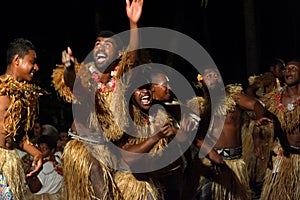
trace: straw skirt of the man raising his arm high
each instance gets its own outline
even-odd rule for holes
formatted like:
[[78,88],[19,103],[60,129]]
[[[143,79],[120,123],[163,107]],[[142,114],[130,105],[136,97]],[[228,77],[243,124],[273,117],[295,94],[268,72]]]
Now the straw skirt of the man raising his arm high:
[[[94,147],[97,148],[97,147]],[[103,145],[98,145],[98,148],[102,148],[103,154],[108,153],[107,149]],[[71,140],[67,143],[63,152],[63,172],[64,183],[62,188],[63,198],[66,200],[82,200],[82,199],[98,199],[95,197],[93,185],[90,181],[90,171],[92,165],[92,155],[87,148],[87,145],[80,140]],[[100,157],[100,156],[99,156]],[[99,160],[98,160],[99,161]],[[108,194],[111,192],[110,186],[113,186],[113,194],[115,199],[119,199],[118,190],[114,188],[112,171],[101,161],[99,164],[103,171],[104,183],[103,198],[108,198]]]

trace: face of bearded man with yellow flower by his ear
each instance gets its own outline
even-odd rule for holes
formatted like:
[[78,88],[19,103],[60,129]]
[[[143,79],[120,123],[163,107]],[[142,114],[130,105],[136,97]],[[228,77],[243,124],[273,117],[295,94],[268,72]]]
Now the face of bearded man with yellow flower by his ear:
[[215,69],[205,69],[203,81],[208,89],[217,89],[222,85],[222,79],[219,72]]

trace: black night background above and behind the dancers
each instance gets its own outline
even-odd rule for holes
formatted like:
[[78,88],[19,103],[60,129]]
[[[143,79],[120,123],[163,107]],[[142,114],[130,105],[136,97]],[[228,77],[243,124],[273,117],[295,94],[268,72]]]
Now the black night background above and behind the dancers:
[[[246,2],[253,3],[253,8],[245,7]],[[61,51],[70,46],[82,61],[92,50],[98,30],[119,33],[129,28],[125,0],[2,1],[0,6],[1,73],[6,68],[8,42],[15,37],[31,40],[39,49],[40,84],[52,93],[41,104],[44,115],[64,114],[57,113],[66,105],[56,97],[50,82]],[[266,71],[272,58],[299,57],[299,7],[298,0],[208,0],[206,8],[201,0],[144,0],[139,26],[170,28],[190,36],[210,54],[225,83],[246,86],[248,76]],[[252,26],[245,23],[247,13],[254,17]],[[246,33],[251,33],[251,41]],[[249,57],[249,48],[255,59]],[[153,53],[154,61],[167,59]],[[172,67],[179,70],[182,64],[172,61]]]

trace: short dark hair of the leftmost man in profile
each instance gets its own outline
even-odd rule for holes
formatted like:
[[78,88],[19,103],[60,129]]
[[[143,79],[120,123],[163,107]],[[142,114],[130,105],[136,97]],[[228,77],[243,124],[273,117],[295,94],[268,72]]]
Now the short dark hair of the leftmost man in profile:
[[29,50],[36,50],[36,47],[31,41],[24,38],[16,38],[12,40],[6,51],[6,63],[10,64],[13,61],[14,56],[17,54],[24,58],[24,56],[29,53]]

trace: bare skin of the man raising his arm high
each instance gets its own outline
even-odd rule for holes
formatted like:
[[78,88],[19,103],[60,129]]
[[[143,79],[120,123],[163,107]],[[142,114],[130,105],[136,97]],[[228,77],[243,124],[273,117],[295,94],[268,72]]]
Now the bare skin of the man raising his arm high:
[[[126,0],[126,13],[127,17],[129,19],[129,24],[130,24],[130,41],[129,41],[129,51],[131,49],[137,49],[137,45],[139,42],[139,37],[138,37],[138,21],[141,17],[142,14],[142,7],[143,7],[143,0],[134,0],[134,1],[129,1]],[[122,50],[120,49],[122,47],[117,46],[117,42],[115,41],[114,38],[111,37],[98,37],[95,40],[94,44],[94,49],[93,49],[93,58],[94,58],[94,63],[95,67],[97,68],[97,73],[99,77],[101,77],[101,82],[103,84],[106,84],[109,81],[110,78],[110,72],[111,70],[114,70],[114,65],[113,67],[109,66],[111,62],[114,60],[120,58],[122,55]],[[136,59],[136,51],[133,51],[132,54],[130,54],[129,59],[130,62],[134,63]],[[73,91],[74,87],[74,82],[76,79],[76,73],[74,69],[74,61],[75,58],[73,57],[73,53],[71,48],[67,48],[67,50],[62,52],[62,63],[65,65],[66,70],[64,72],[64,81],[66,85]],[[115,64],[115,63],[113,63]],[[84,66],[83,66],[84,67]],[[109,71],[107,70],[109,69]],[[89,88],[85,88],[82,85],[76,85],[76,91],[80,91],[80,97],[85,98],[85,94],[89,93],[88,91]],[[89,93],[90,94],[90,93]],[[74,94],[77,96],[77,94]],[[78,108],[80,109],[80,108]],[[85,114],[85,116],[88,116],[89,113],[86,112],[86,110],[80,110],[80,113]],[[82,119],[87,119],[87,117],[81,116]],[[73,123],[75,124],[75,123]],[[80,120],[79,122],[76,121],[76,125],[80,125]],[[77,127],[79,130],[79,127]],[[73,130],[76,130],[76,127],[72,127]],[[84,127],[80,128],[80,130],[84,130]],[[90,130],[86,131],[87,133],[90,132]],[[97,161],[94,157],[90,157],[91,163],[91,172],[90,172],[90,180],[93,185],[94,193],[95,196],[98,198],[103,197],[103,187],[104,187],[104,178],[103,178],[103,171],[101,169],[101,166],[99,164],[99,161]],[[110,199],[113,199],[113,194],[112,190],[110,190]]]

